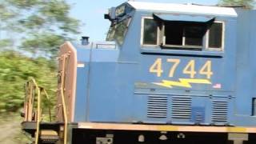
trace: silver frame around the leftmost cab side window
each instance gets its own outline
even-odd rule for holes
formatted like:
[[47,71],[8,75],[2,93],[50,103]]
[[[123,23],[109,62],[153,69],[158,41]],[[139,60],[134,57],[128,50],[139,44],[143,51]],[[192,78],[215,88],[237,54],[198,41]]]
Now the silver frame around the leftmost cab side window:
[[141,21],[141,46],[151,46],[151,47],[158,47],[160,44],[160,28],[158,26],[158,30],[157,30],[157,43],[155,45],[153,44],[144,44],[144,24],[145,24],[145,19],[153,19],[153,17],[150,16],[143,16],[142,17],[142,21]]

